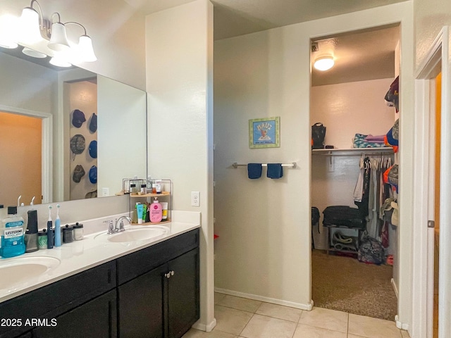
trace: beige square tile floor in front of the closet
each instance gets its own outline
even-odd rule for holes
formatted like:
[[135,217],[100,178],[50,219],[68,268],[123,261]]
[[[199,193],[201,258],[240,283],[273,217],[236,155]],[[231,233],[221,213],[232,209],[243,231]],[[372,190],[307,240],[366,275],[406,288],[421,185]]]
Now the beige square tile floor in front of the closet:
[[408,338],[394,322],[326,308],[312,311],[215,293],[216,327],[183,338]]

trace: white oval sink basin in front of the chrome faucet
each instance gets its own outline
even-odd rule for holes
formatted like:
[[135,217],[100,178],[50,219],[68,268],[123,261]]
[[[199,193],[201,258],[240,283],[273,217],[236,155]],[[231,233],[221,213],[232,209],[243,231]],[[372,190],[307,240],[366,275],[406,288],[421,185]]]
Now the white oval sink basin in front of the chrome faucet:
[[97,241],[113,242],[113,243],[127,243],[139,242],[149,239],[158,239],[168,233],[168,228],[162,225],[147,225],[147,226],[131,226],[126,227],[125,231],[117,232],[116,234],[98,234],[94,237]]

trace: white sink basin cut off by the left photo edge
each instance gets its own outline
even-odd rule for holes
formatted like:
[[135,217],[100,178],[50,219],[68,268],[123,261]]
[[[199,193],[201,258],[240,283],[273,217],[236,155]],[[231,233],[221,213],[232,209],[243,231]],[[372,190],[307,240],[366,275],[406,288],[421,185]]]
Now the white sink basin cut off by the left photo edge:
[[56,268],[61,261],[48,256],[14,257],[0,261],[0,289],[27,282],[49,270]]

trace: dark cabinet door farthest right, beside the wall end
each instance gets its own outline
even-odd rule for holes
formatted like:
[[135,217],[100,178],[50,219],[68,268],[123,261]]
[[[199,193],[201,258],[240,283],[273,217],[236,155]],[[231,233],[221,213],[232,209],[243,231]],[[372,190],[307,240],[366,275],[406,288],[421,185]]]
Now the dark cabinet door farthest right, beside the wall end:
[[169,261],[168,269],[166,337],[178,338],[199,319],[199,248]]

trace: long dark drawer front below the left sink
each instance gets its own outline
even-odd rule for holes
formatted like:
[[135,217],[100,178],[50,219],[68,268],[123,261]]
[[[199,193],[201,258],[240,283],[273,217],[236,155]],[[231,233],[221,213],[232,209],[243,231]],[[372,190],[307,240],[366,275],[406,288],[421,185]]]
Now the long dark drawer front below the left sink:
[[56,318],[116,287],[116,263],[111,261],[0,303],[0,318],[20,318],[21,327],[0,327],[0,338],[30,330],[25,321]]

